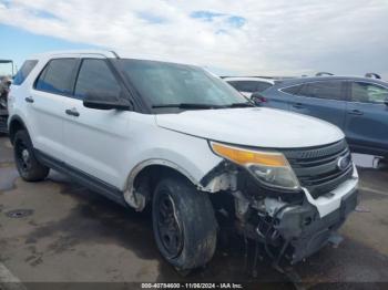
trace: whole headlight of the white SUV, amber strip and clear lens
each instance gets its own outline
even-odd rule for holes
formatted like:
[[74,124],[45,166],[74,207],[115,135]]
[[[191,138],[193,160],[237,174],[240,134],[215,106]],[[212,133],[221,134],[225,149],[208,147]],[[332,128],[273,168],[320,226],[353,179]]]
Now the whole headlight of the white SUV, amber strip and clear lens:
[[299,183],[287,159],[278,152],[251,151],[211,142],[215,154],[244,166],[261,183],[282,189],[297,190]]

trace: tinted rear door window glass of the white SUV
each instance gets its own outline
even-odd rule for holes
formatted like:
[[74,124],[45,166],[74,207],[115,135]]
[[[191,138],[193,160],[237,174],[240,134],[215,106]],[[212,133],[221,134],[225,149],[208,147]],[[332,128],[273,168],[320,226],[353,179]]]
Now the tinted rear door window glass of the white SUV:
[[53,94],[71,95],[74,84],[76,59],[57,59],[49,62],[39,75],[35,90]]

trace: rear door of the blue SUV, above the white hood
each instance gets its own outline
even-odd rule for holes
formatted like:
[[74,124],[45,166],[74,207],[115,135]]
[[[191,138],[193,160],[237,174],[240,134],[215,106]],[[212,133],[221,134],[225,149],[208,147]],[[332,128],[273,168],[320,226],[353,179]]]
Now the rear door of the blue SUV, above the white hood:
[[346,83],[338,80],[309,82],[302,85],[289,104],[293,112],[315,116],[340,128],[345,125]]

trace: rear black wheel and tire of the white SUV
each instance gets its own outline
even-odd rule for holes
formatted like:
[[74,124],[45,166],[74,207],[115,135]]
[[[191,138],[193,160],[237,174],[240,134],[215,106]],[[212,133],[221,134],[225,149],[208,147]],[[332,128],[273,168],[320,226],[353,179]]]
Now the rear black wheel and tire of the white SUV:
[[14,135],[13,156],[18,172],[25,182],[40,182],[49,175],[50,168],[40,164],[34,156],[31,138],[24,130]]

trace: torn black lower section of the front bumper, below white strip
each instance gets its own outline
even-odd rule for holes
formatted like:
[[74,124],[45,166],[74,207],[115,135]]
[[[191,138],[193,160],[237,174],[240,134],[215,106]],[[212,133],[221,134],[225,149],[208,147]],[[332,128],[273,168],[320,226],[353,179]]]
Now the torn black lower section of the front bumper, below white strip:
[[[341,196],[336,210],[324,217],[314,205],[305,201],[285,207],[269,221],[262,219],[257,224],[245,224],[241,229],[246,237],[264,244],[275,266],[283,258],[294,265],[330,242],[338,245],[341,238],[336,231],[357,204],[358,191],[355,187]],[[266,225],[262,227],[263,224]]]

